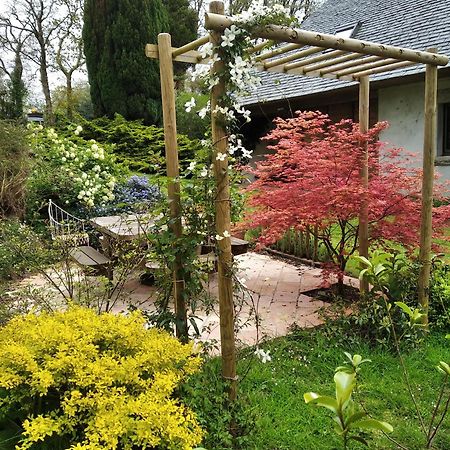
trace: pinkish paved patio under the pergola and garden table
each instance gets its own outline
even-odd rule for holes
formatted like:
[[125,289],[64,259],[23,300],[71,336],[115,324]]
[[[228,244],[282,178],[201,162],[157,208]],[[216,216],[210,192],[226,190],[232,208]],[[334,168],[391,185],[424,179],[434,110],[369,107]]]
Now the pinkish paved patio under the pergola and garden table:
[[[249,252],[236,257],[238,279],[245,293],[240,294],[237,312],[238,343],[255,345],[266,337],[285,335],[292,325],[313,327],[321,323],[318,310],[326,303],[304,295],[321,284],[321,271],[306,265],[294,265],[267,254]],[[135,276],[136,275],[136,276]],[[152,310],[157,296],[155,287],[139,282],[135,274],[125,283],[122,297],[127,303],[117,303],[114,311],[126,310],[133,304],[144,310]],[[357,285],[357,280],[346,277],[345,282]],[[33,287],[45,286],[41,276],[34,276],[21,283]],[[217,274],[209,275],[207,289],[218,297]],[[54,289],[53,289],[54,291]],[[201,341],[219,343],[219,308],[206,314],[198,311],[195,320],[201,330]],[[258,326],[255,312],[259,317]]]

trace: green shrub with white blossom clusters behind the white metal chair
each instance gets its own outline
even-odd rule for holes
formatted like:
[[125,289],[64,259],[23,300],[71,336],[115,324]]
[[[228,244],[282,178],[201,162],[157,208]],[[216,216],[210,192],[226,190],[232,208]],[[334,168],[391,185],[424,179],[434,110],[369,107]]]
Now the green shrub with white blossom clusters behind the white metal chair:
[[29,185],[34,208],[53,198],[63,205],[93,207],[114,199],[119,166],[107,146],[69,133],[34,127],[31,147],[36,165]]

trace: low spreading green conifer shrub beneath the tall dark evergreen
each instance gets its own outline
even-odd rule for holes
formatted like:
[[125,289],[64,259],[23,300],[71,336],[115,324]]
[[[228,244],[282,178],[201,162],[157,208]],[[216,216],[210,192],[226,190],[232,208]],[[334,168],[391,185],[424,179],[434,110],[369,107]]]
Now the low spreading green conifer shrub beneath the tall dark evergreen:
[[[139,121],[127,121],[116,115],[82,122],[81,135],[101,144],[113,144],[117,160],[133,172],[166,173],[164,130],[155,126],[145,126]],[[189,160],[200,151],[199,141],[178,135],[180,164],[186,167]]]

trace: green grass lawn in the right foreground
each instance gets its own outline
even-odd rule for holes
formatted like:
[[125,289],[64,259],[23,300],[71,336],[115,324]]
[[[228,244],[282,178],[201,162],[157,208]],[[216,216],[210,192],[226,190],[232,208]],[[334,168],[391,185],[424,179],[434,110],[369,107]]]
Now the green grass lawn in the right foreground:
[[[334,369],[345,360],[343,351],[359,353],[370,358],[362,367],[360,394],[368,412],[394,427],[391,437],[404,447],[425,448],[419,431],[416,413],[402,381],[398,358],[387,350],[370,347],[367,343],[351,347],[341,346],[335,340],[317,332],[300,332],[267,342],[263,348],[270,350],[272,361],[263,364],[253,356],[240,361],[240,374],[244,375],[239,390],[245,402],[245,415],[254,418],[254,426],[247,442],[238,448],[248,450],[301,450],[342,448],[333,430],[331,412],[306,405],[303,394],[314,391],[334,396]],[[250,363],[251,359],[251,363]],[[430,418],[437,389],[442,380],[435,368],[440,361],[450,361],[450,341],[443,334],[434,334],[419,349],[405,355],[416,386],[418,402],[426,422]],[[249,364],[250,363],[250,364]],[[217,370],[218,361],[207,363]],[[206,377],[207,378],[207,377]],[[204,386],[205,395],[208,387]],[[448,392],[448,390],[447,390]],[[449,392],[448,394],[449,395]],[[368,434],[370,448],[398,448],[380,433]],[[373,436],[373,437],[372,437]],[[208,450],[230,448],[205,445]],[[363,448],[351,443],[349,448]],[[450,415],[435,439],[435,449],[450,449]]]

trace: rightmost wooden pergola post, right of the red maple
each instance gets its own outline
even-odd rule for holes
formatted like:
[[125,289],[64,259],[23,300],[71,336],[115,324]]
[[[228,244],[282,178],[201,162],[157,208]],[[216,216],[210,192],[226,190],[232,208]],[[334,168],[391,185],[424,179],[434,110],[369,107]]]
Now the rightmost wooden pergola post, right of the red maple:
[[[437,49],[428,49],[429,52],[437,52]],[[437,133],[437,66],[427,64],[425,72],[425,110],[424,110],[424,140],[423,140],[423,175],[422,175],[422,215],[420,226],[420,251],[419,251],[419,303],[422,306],[425,317],[424,323],[428,324],[428,302],[431,272],[431,237],[432,237],[432,212],[433,212],[433,181],[434,159],[436,155]]]

